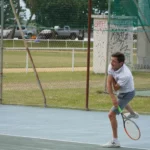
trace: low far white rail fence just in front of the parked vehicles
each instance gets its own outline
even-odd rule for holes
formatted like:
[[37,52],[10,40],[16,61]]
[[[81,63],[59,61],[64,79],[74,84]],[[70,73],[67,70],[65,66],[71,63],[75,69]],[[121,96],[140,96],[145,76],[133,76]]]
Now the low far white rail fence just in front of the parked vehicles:
[[[31,50],[86,50],[87,40],[26,40]],[[21,39],[4,39],[4,49],[6,50],[23,50],[23,40]],[[93,40],[91,41],[91,49],[93,49]],[[133,50],[137,50],[137,40],[133,41]]]

